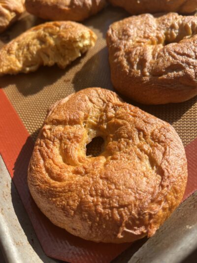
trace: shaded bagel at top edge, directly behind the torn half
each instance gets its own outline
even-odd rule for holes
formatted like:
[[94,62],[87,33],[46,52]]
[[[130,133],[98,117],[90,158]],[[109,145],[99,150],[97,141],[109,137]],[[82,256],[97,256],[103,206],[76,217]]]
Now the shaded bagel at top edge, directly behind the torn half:
[[82,21],[98,13],[105,0],[26,0],[31,14],[48,20]]

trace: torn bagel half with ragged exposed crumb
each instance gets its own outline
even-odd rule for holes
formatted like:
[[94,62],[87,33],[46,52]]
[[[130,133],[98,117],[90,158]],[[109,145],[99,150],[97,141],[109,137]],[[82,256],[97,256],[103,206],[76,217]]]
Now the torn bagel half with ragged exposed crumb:
[[93,31],[75,22],[41,24],[0,49],[0,75],[29,73],[56,63],[64,69],[96,40]]

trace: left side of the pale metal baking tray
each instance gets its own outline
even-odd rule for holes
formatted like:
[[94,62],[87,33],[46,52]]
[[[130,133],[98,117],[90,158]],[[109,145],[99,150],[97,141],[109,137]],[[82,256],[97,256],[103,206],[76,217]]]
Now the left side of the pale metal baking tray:
[[[58,263],[36,237],[19,194],[0,156],[0,249],[6,263]],[[5,263],[0,254],[0,263]]]

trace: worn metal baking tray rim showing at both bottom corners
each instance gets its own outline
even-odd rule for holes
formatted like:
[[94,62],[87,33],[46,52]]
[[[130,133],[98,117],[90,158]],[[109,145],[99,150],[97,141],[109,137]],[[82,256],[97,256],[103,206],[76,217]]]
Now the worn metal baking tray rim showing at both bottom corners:
[[[0,263],[61,263],[44,254],[1,156],[0,248]],[[113,261],[127,262],[197,263],[197,192],[176,209],[153,237],[133,243]]]

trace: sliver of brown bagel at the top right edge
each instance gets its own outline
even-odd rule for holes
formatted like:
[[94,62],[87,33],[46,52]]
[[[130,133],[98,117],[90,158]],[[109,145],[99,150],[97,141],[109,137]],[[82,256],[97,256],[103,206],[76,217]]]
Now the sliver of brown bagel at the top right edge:
[[132,15],[159,12],[187,14],[197,10],[197,0],[109,0],[109,2],[125,8]]

